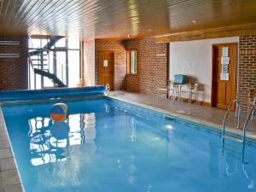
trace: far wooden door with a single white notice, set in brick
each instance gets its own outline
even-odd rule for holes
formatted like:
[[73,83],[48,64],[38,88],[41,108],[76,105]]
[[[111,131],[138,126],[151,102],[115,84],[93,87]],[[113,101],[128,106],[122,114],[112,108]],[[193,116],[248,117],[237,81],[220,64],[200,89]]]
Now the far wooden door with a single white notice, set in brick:
[[113,53],[110,51],[99,52],[99,84],[109,84],[113,90]]

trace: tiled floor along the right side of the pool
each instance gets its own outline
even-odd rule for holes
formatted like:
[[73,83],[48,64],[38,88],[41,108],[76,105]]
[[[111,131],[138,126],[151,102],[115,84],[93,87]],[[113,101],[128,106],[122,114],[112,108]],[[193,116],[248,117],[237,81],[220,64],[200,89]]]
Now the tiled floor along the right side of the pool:
[[[219,108],[202,107],[200,105],[191,104],[190,107],[186,102],[173,102],[164,97],[157,98],[157,96],[148,96],[137,93],[130,93],[125,91],[113,91],[109,94],[110,97],[131,102],[143,107],[153,108],[163,113],[168,113],[173,116],[178,116],[185,119],[192,119],[205,125],[211,125],[218,129],[222,127],[222,121],[226,110]],[[246,113],[241,113],[241,127],[245,122]],[[236,129],[235,113],[231,112],[227,119],[226,126],[229,131],[241,134],[241,130]],[[256,139],[256,116],[253,121],[249,120],[247,124],[247,137]]]

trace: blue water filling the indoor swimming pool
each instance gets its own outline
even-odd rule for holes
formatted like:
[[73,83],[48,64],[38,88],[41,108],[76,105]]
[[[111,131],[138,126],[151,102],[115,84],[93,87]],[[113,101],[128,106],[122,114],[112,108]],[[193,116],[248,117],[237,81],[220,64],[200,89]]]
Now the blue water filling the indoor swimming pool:
[[[4,107],[26,192],[256,191],[256,148],[222,152],[218,131],[99,98]],[[232,148],[231,148],[232,149]]]

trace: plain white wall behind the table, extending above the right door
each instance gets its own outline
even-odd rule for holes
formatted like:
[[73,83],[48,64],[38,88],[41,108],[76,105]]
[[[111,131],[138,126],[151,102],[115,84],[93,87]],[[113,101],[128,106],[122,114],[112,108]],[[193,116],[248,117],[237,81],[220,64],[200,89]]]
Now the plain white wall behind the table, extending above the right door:
[[200,100],[211,102],[212,44],[238,42],[239,37],[170,43],[169,79],[174,79],[175,74],[184,74],[195,78],[203,87],[203,90],[200,91]]

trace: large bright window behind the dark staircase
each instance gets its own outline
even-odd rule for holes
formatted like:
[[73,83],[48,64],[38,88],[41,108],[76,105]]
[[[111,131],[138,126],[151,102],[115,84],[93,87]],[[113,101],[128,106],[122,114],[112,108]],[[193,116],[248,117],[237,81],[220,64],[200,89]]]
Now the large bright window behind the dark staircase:
[[[0,0],[1,1],[1,0]],[[29,52],[44,48],[49,42],[47,38],[29,39]],[[69,87],[75,87],[80,82],[80,42],[79,39],[68,40],[61,38],[44,54],[31,55],[33,68],[55,74],[58,79]],[[31,67],[29,84],[31,89],[43,89],[53,87],[54,84],[48,78],[34,73]]]

